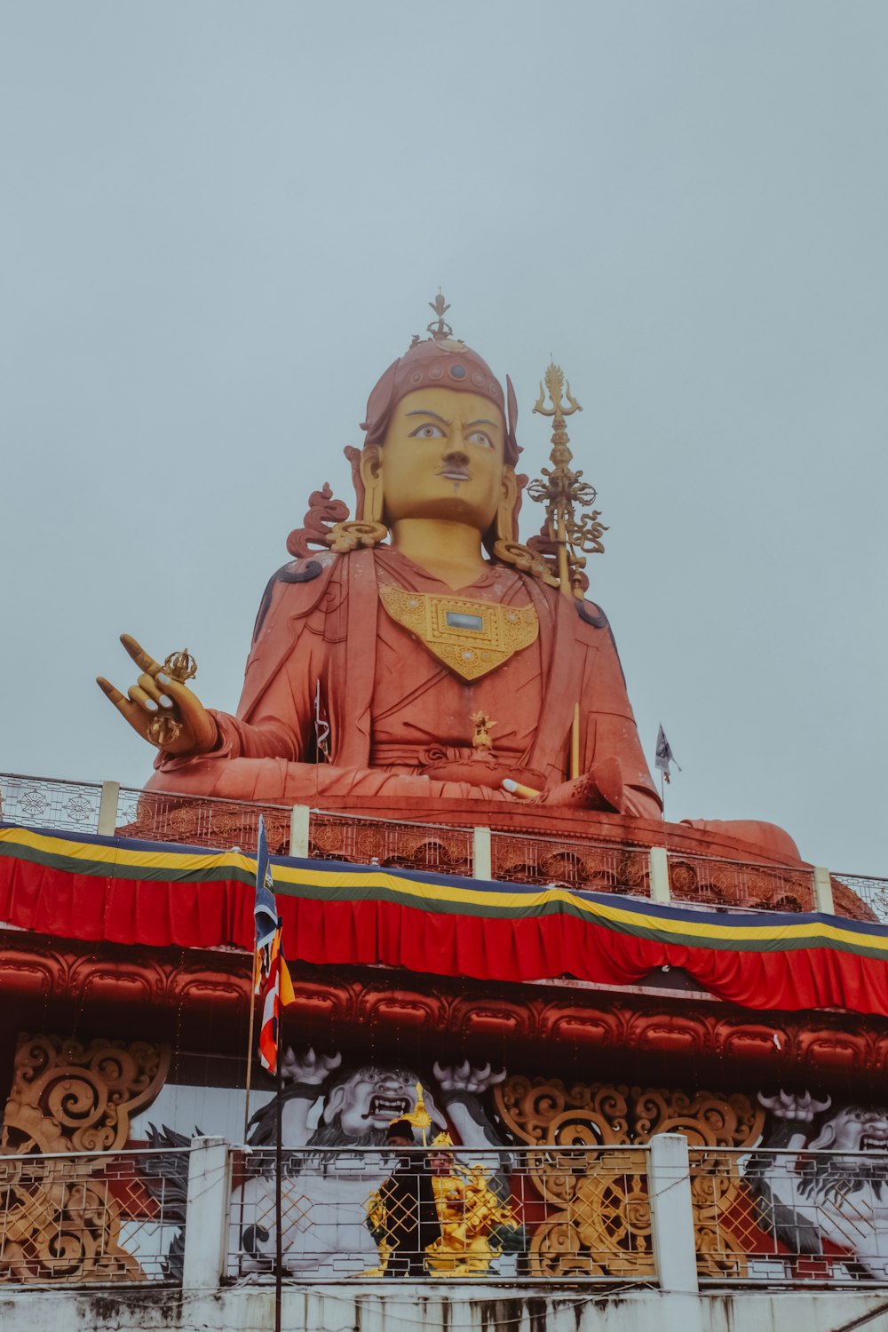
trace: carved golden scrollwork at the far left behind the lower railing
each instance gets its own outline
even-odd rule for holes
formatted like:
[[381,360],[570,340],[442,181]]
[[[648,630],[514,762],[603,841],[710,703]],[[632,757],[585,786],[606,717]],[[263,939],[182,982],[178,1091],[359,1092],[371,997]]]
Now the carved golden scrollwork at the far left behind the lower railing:
[[108,1158],[40,1162],[33,1154],[121,1148],[130,1116],[162,1087],[169,1059],[169,1046],[148,1042],[20,1036],[0,1139],[0,1281],[144,1279],[120,1245],[126,1185],[107,1177]]

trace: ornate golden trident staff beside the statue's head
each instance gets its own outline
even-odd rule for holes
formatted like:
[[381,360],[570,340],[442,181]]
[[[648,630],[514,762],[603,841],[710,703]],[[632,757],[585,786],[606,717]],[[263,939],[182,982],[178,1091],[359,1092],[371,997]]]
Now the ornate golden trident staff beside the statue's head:
[[[592,509],[582,518],[575,514],[575,506],[588,507],[595,502],[595,486],[580,481],[582,472],[574,472],[574,454],[568,449],[566,417],[582,412],[582,406],[570,392],[562,368],[550,362],[545,378],[546,388],[539,385],[539,398],[534,412],[553,418],[551,468],[543,468],[545,481],[531,481],[527,494],[531,500],[546,505],[546,526],[549,541],[558,554],[558,581],[566,597],[583,597],[582,573],[586,567],[586,554],[602,554],[604,546],[602,534],[607,527],[599,522],[600,511]],[[546,394],[551,408],[545,406]],[[563,402],[567,398],[567,404]]]

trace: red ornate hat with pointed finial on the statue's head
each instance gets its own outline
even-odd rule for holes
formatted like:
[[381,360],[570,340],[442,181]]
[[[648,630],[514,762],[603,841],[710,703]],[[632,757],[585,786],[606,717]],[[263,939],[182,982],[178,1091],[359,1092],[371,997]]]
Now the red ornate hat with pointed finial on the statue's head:
[[365,444],[382,442],[393,409],[407,393],[422,388],[457,389],[478,393],[497,404],[506,424],[505,461],[514,466],[521,449],[515,440],[518,401],[511,380],[506,376],[503,393],[487,362],[453,337],[453,329],[443,318],[450,309],[443,296],[438,294],[429,304],[438,316],[426,330],[431,336],[421,341],[417,334],[405,354],[391,362],[367,400],[366,420],[361,422],[361,429],[366,430]]

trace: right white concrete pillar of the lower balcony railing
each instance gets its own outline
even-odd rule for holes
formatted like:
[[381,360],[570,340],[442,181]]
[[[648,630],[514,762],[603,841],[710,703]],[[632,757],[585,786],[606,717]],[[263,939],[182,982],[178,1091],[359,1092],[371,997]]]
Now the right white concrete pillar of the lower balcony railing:
[[656,1275],[663,1291],[698,1289],[694,1209],[684,1134],[655,1134],[647,1187]]

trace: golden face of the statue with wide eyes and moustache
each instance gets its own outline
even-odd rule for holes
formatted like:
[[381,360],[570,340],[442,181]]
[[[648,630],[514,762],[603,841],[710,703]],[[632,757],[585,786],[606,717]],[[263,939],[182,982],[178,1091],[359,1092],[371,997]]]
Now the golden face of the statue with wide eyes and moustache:
[[446,518],[486,531],[503,496],[502,412],[475,393],[417,389],[378,453],[385,519]]

